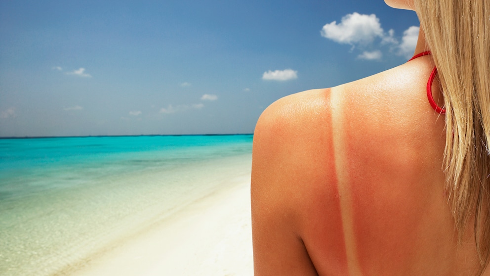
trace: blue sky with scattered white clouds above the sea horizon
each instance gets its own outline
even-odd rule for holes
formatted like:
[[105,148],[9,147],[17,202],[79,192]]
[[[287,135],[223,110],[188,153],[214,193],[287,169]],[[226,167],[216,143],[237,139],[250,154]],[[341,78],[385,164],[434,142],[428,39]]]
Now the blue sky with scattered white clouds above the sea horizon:
[[252,133],[404,63],[418,24],[382,0],[0,0],[0,137]]

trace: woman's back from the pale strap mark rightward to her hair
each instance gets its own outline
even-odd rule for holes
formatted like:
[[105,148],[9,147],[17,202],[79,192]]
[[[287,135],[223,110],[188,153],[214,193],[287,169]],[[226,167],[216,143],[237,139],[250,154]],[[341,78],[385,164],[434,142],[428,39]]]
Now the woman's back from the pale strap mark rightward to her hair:
[[474,271],[457,258],[442,171],[444,117],[424,98],[419,80],[430,66],[420,63],[331,90],[349,275]]

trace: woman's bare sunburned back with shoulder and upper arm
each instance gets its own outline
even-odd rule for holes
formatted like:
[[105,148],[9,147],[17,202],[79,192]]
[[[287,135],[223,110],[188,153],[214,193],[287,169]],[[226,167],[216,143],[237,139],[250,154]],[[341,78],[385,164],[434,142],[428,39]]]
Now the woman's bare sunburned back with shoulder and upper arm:
[[419,58],[264,111],[252,164],[256,275],[476,273],[473,230],[458,246],[445,193],[444,115],[425,94],[432,68]]

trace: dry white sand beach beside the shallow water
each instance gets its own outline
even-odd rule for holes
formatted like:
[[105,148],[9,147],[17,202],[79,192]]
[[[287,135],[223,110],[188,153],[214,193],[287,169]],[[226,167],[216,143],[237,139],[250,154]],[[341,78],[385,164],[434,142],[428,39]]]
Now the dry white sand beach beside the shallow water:
[[230,182],[73,275],[253,275],[250,178]]

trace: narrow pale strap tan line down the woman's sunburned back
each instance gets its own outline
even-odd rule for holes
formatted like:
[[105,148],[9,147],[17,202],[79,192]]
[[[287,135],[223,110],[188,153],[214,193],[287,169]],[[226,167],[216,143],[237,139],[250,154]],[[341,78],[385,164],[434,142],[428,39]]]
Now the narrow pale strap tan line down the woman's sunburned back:
[[345,170],[345,137],[343,131],[344,98],[342,88],[332,88],[330,91],[330,105],[332,110],[333,152],[335,156],[335,170],[337,174],[338,192],[340,195],[340,210],[342,227],[344,230],[345,252],[350,276],[362,275],[357,259],[356,239],[352,219],[352,195],[350,193],[349,176]]

